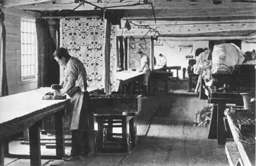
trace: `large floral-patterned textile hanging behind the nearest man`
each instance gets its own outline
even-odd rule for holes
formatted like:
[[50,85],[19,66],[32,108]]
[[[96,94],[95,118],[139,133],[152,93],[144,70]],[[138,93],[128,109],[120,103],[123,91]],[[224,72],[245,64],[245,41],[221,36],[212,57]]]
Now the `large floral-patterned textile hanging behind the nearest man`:
[[[61,46],[77,57],[87,71],[88,89],[104,88],[105,24],[101,18],[62,18]],[[64,69],[61,77],[65,75]]]

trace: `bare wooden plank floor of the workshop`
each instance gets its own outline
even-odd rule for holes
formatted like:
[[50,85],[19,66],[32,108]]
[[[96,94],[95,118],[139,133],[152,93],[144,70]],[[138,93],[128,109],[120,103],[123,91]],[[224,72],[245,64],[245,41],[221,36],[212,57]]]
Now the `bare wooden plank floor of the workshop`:
[[[163,94],[143,98],[143,110],[136,120],[142,141],[129,157],[126,154],[97,154],[78,162],[43,160],[42,164],[228,165],[224,157],[224,147],[218,147],[217,141],[207,139],[208,129],[193,126],[195,112],[205,105],[207,101],[200,101],[193,95]],[[148,125],[152,115],[154,118],[151,125]],[[14,148],[17,147],[18,145]],[[9,165],[29,165],[29,160],[16,160]]]

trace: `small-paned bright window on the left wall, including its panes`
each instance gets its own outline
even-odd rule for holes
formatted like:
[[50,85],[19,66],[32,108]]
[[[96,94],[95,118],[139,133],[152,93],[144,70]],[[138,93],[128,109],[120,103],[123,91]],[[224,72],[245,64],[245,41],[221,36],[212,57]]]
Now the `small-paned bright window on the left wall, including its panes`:
[[37,78],[37,34],[35,19],[21,20],[22,81]]

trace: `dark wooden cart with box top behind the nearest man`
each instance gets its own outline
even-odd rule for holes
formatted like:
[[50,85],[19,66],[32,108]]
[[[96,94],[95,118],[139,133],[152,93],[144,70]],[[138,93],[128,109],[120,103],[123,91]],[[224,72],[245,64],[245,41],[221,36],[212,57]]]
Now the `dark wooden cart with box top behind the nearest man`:
[[[95,152],[130,154],[137,142],[134,119],[141,110],[141,95],[93,95],[91,99],[98,123],[98,132],[94,137]],[[122,133],[113,133],[113,128],[122,128]],[[121,148],[109,151],[105,148],[108,144]]]

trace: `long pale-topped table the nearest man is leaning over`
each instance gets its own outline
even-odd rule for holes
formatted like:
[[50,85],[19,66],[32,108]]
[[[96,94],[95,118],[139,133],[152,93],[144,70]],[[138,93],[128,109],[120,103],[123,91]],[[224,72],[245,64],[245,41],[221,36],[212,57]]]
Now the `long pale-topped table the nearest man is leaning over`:
[[[49,87],[40,88],[16,95],[0,97],[0,165],[4,165],[4,154],[8,152],[8,136],[29,128],[30,155],[16,155],[19,158],[30,158],[33,166],[41,165],[42,159],[61,159],[64,156],[64,111],[68,109],[70,99],[42,100]],[[55,115],[56,155],[42,155],[39,126],[47,115]],[[4,150],[4,148],[6,148]],[[12,155],[14,156],[14,155]]]

